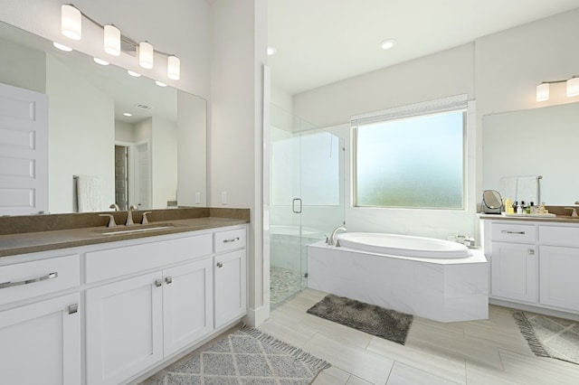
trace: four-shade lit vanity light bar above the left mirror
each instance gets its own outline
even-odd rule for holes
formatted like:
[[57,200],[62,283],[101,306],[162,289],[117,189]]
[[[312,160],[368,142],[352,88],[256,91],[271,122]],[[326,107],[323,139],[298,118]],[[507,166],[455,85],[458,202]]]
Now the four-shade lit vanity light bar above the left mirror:
[[179,80],[181,77],[181,61],[173,54],[156,51],[149,42],[137,43],[127,36],[123,36],[119,28],[114,25],[102,25],[83,14],[74,5],[65,4],[61,7],[61,31],[62,34],[73,40],[82,38],[82,17],[99,26],[103,31],[105,52],[119,56],[120,52],[126,52],[131,56],[136,56],[138,52],[138,64],[146,69],[152,69],[154,65],[155,53],[167,57],[167,77],[172,80]]

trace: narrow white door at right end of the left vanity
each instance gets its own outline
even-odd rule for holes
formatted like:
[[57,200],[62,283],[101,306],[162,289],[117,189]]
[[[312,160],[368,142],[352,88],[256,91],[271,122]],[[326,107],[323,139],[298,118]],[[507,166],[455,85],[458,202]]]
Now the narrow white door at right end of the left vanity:
[[245,315],[245,249],[214,257],[215,328]]

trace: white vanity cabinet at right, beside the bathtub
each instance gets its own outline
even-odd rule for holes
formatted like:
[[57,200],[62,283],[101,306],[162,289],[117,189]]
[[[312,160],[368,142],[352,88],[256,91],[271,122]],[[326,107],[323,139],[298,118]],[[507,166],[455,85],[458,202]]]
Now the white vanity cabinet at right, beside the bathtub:
[[480,218],[489,302],[579,319],[579,221]]

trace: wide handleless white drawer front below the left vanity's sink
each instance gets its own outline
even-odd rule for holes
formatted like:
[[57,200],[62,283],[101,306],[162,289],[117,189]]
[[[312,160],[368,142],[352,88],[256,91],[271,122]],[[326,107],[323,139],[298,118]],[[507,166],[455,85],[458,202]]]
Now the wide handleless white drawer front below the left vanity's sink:
[[211,234],[90,251],[86,253],[87,283],[203,257],[212,251]]

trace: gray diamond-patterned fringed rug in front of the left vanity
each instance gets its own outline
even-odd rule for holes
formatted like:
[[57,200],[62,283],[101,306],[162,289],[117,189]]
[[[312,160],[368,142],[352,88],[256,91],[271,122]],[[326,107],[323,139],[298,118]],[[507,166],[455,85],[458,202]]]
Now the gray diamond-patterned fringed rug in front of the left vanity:
[[143,385],[308,385],[330,364],[251,327],[192,352]]

